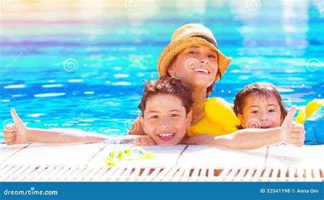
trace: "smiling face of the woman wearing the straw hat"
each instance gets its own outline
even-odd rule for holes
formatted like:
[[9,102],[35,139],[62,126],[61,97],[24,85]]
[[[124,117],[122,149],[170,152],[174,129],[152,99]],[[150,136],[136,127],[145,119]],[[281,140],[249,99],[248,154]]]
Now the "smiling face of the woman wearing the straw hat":
[[217,52],[205,44],[195,44],[177,55],[168,72],[187,87],[199,89],[213,84],[217,70]]

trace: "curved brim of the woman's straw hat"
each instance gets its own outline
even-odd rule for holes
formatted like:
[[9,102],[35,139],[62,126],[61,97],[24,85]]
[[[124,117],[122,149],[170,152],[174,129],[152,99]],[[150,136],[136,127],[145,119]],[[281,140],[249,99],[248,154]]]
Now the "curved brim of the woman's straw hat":
[[[221,51],[219,51],[213,44],[202,38],[181,38],[180,40],[176,40],[171,42],[167,47],[164,48],[161,53],[159,60],[157,62],[157,68],[159,72],[159,76],[165,76],[167,74],[167,70],[170,66],[170,62],[172,59],[178,55],[181,51],[189,46],[193,46],[194,44],[205,44],[218,54],[218,69],[221,72],[221,76],[226,72],[228,66],[230,66],[230,61],[232,61],[232,57],[226,57]],[[215,81],[219,79],[219,75],[215,77]]]

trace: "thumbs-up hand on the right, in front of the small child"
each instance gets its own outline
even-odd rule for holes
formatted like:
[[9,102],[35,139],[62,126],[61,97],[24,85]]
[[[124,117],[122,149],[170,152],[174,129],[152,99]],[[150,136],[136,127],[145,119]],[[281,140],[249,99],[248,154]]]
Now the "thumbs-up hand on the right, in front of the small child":
[[303,124],[293,122],[296,110],[296,107],[292,106],[286,118],[284,118],[284,122],[282,122],[282,141],[289,145],[301,147],[305,141],[306,131]]

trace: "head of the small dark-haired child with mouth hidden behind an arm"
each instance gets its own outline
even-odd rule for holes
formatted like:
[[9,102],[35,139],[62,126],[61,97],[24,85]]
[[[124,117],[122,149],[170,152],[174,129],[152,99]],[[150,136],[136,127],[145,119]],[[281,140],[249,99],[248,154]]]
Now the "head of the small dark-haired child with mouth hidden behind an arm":
[[271,83],[253,83],[239,91],[234,113],[239,117],[239,129],[280,127],[287,115],[284,101]]

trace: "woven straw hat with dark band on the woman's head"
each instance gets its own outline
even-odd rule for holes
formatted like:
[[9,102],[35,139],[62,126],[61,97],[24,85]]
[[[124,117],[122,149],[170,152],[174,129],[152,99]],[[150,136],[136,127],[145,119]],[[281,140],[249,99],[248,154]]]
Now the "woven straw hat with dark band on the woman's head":
[[[194,44],[206,44],[213,50],[217,51],[218,68],[221,75],[226,72],[232,57],[226,57],[217,49],[217,42],[211,30],[203,25],[187,24],[176,29],[172,35],[170,44],[167,45],[161,53],[159,61],[157,62],[159,76],[165,76],[167,74],[170,62],[176,55],[178,55],[178,53],[180,53],[180,51],[183,51],[185,48]],[[215,81],[218,79],[219,75],[217,74]]]

